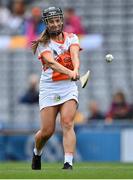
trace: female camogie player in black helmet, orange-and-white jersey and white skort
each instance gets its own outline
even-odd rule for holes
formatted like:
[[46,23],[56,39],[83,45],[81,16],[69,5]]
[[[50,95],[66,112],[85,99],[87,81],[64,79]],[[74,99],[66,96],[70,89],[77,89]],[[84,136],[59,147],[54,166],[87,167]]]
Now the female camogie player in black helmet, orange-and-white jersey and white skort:
[[42,63],[39,106],[41,128],[35,135],[32,169],[41,169],[42,149],[55,131],[56,116],[60,113],[63,131],[64,166],[72,169],[76,137],[74,116],[78,104],[79,40],[75,34],[63,32],[63,13],[60,8],[43,11],[46,30],[32,43]]

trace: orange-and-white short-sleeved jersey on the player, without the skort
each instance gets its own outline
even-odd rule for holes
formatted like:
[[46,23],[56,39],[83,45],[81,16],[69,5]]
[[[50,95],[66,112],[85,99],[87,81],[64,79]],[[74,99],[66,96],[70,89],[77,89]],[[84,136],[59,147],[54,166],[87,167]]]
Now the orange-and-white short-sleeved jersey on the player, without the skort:
[[52,53],[55,61],[65,66],[66,68],[73,70],[73,64],[70,56],[70,47],[79,46],[79,39],[73,33],[63,32],[63,34],[63,42],[50,40],[47,45],[44,45],[43,43],[39,43],[38,45],[38,59],[41,60],[43,65],[41,79],[45,82],[68,80],[69,77],[68,75],[59,73],[47,67],[45,61],[42,59],[42,54],[44,55],[45,53]]

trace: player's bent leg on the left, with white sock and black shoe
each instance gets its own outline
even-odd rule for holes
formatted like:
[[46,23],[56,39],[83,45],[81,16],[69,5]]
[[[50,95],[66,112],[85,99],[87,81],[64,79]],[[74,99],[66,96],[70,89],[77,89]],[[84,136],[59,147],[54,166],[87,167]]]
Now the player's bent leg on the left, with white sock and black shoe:
[[55,130],[55,121],[58,106],[47,107],[41,110],[41,128],[35,134],[35,148],[32,159],[32,169],[41,169],[42,149]]

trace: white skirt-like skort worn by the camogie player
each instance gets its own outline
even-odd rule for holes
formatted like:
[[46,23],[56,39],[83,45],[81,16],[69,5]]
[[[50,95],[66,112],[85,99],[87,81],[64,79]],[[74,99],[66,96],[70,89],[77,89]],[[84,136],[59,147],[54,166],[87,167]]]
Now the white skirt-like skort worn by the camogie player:
[[78,88],[74,81],[44,82],[40,80],[39,107],[56,106],[70,99],[78,103]]

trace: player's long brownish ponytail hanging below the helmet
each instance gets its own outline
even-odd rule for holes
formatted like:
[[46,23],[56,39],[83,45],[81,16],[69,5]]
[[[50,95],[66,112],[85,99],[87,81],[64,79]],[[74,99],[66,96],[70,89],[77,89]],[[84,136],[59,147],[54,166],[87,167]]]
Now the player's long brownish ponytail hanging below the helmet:
[[32,41],[31,49],[32,49],[33,53],[34,54],[36,53],[39,43],[47,44],[49,42],[49,40],[50,40],[50,35],[48,33],[48,30],[46,29],[42,32],[41,36],[37,40]]

